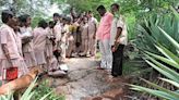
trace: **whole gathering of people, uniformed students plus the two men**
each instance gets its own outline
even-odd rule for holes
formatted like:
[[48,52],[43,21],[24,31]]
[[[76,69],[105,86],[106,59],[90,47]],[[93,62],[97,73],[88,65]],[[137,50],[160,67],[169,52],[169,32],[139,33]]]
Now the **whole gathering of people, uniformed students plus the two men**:
[[[4,10],[0,27],[0,76],[16,67],[17,77],[34,66],[47,72],[58,70],[61,61],[71,57],[95,57],[98,41],[102,52],[99,68],[111,70],[112,76],[122,74],[123,48],[127,45],[127,26],[119,5],[111,13],[104,5],[97,8],[99,24],[92,11],[76,16],[53,14],[53,21],[40,20],[33,29],[28,14],[16,15]],[[13,73],[14,74],[14,73]]]

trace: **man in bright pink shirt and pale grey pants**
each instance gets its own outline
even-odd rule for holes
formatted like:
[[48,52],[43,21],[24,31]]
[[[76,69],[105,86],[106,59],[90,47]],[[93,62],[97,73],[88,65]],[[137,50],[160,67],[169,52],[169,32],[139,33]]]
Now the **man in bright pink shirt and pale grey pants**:
[[111,68],[112,54],[110,48],[110,28],[112,22],[112,14],[107,12],[104,5],[97,8],[98,13],[102,16],[99,27],[96,36],[99,40],[99,50],[102,52],[102,63],[99,68]]

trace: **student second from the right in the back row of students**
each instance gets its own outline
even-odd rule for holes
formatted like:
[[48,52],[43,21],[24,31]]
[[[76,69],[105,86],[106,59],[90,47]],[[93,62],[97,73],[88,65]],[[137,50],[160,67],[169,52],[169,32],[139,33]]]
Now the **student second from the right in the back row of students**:
[[87,55],[88,51],[88,23],[87,23],[87,17],[84,17],[83,20],[83,25],[82,25],[82,57]]

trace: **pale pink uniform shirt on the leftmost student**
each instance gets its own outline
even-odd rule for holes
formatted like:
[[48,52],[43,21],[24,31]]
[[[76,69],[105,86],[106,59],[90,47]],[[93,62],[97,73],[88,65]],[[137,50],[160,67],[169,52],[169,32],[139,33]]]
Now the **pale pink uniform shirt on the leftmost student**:
[[21,58],[16,40],[17,40],[17,37],[16,37],[14,30],[10,26],[3,24],[0,27],[0,45],[1,45],[0,46],[0,59],[7,59],[5,54],[2,50],[2,45],[7,45],[7,48],[8,48],[11,59],[20,59]]

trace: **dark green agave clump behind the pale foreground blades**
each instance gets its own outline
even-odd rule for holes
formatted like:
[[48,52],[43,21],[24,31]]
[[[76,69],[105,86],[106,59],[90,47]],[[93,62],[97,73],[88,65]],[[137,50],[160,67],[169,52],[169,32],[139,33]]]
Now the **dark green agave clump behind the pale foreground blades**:
[[[172,9],[171,9],[172,10]],[[136,38],[136,47],[140,50],[146,50],[153,53],[160,54],[155,48],[155,43],[160,43],[172,53],[178,53],[169,40],[162,34],[158,28],[164,29],[171,38],[179,42],[179,17],[178,13],[169,13],[164,15],[151,15],[144,18],[143,23],[139,24],[136,30],[140,33]]]

